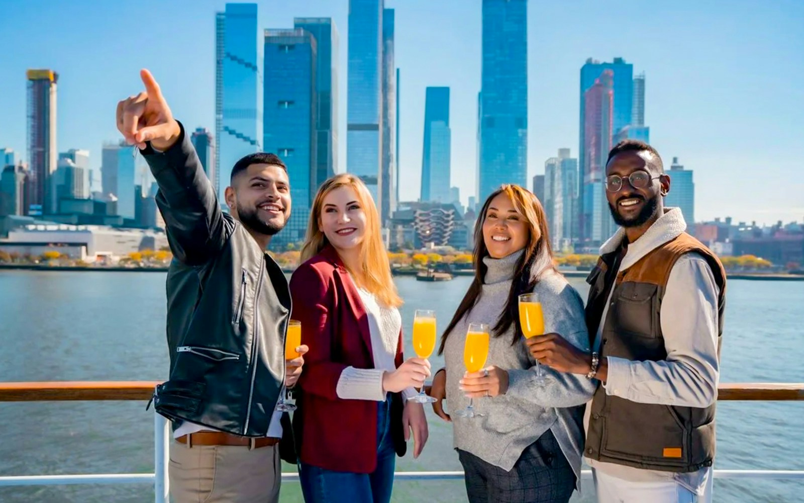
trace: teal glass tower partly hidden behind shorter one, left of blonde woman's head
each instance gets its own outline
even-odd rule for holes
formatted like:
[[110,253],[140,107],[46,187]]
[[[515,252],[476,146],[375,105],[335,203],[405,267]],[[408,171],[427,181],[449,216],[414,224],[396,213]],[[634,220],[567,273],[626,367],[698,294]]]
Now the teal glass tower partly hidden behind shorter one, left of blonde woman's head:
[[316,175],[315,188],[338,172],[338,29],[330,18],[296,18],[315,39]]

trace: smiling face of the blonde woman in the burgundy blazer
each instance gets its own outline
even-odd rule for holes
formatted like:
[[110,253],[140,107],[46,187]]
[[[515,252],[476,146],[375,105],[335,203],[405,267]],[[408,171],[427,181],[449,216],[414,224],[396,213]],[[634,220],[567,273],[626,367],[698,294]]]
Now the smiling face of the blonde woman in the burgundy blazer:
[[354,188],[342,185],[324,196],[318,228],[338,252],[353,250],[363,243],[366,221]]

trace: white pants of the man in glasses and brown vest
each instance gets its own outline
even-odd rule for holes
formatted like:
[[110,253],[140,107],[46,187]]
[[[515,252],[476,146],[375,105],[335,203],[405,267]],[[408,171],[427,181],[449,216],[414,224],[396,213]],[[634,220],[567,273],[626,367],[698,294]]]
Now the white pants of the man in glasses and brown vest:
[[593,469],[597,503],[712,503],[712,468],[704,494],[698,495],[675,480],[630,482]]

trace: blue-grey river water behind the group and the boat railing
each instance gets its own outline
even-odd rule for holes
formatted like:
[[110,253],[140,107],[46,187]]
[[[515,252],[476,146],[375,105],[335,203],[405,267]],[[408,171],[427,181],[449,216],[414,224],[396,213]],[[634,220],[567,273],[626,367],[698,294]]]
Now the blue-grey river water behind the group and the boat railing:
[[[435,309],[445,327],[470,278],[396,282],[409,334],[416,308]],[[585,282],[571,283],[585,297]],[[164,273],[0,271],[0,381],[164,379],[164,292]],[[802,382],[802,357],[804,282],[729,282],[721,381]],[[145,402],[0,403],[0,475],[153,472],[152,414]],[[397,460],[397,470],[460,470],[451,427],[432,412],[428,417],[424,453]],[[717,418],[716,468],[804,469],[804,402],[720,402]],[[594,501],[590,481],[583,489],[573,502]],[[146,503],[153,489],[0,488],[0,501]],[[298,484],[284,484],[281,501],[301,501]],[[462,481],[399,481],[393,501],[466,501],[466,492]],[[800,502],[804,482],[716,480],[715,501]]]

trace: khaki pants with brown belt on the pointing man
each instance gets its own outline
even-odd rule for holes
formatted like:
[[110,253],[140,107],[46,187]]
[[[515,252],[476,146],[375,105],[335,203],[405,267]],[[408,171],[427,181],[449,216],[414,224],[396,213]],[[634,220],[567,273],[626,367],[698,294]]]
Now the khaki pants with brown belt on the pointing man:
[[175,503],[276,503],[279,444],[248,450],[236,445],[170,443],[170,495]]

